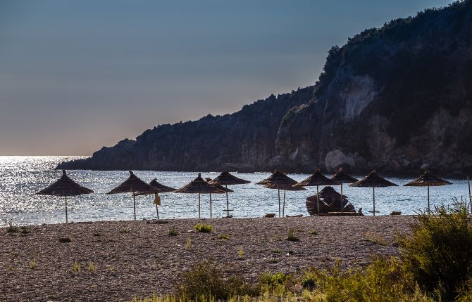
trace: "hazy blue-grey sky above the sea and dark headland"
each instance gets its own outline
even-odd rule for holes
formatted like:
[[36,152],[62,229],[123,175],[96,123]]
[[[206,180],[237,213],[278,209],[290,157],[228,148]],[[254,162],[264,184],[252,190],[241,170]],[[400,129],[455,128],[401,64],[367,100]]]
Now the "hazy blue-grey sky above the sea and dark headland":
[[0,155],[92,155],[313,85],[328,50],[445,0],[0,0]]

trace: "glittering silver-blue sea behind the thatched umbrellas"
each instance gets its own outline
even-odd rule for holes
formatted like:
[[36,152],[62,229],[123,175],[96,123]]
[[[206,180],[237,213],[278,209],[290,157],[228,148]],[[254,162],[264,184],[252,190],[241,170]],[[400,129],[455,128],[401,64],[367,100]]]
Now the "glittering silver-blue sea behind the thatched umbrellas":
[[[0,225],[8,221],[15,225],[62,223],[65,221],[63,197],[35,195],[61,176],[54,167],[59,162],[80,157],[0,157]],[[193,180],[197,173],[135,171],[142,180],[149,182],[157,178],[160,183],[180,188]],[[105,195],[128,178],[128,171],[68,171],[73,180],[95,191],[94,194],[68,198],[69,221],[111,221],[132,219],[133,206],[129,194]],[[215,173],[202,173],[203,177],[214,178]],[[230,208],[235,217],[259,217],[267,213],[278,213],[277,190],[255,185],[269,173],[238,173],[237,176],[250,180],[248,185],[230,188]],[[304,174],[290,174],[295,180],[307,177]],[[361,178],[361,176],[357,176]],[[398,185],[409,179],[390,178]],[[453,197],[468,196],[466,180],[450,180],[454,184],[430,189],[432,204],[453,204]],[[335,187],[337,190],[339,187]],[[356,210],[362,207],[364,214],[372,209],[371,188],[349,188],[344,185],[344,195],[354,204]],[[308,215],[305,198],[316,193],[315,188],[307,191],[287,192],[285,214]],[[321,190],[321,188],[320,188]],[[167,193],[161,195],[160,218],[196,218],[198,216],[197,195]],[[212,195],[213,218],[225,216],[225,195]],[[156,208],[152,196],[136,198],[138,218],[155,218]],[[392,187],[375,190],[375,209],[381,215],[391,211],[415,214],[426,209],[426,188]],[[201,217],[209,217],[209,196],[202,195]]]

